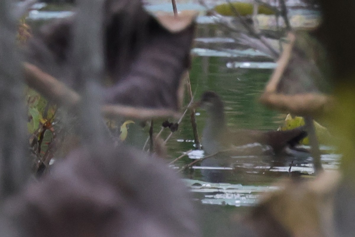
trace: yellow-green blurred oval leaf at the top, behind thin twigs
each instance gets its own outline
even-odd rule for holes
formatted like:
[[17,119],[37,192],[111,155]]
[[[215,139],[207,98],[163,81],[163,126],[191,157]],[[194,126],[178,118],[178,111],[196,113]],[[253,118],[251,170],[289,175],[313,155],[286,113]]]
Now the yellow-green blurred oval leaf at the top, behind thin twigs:
[[[253,13],[253,4],[246,2],[233,2],[232,5],[242,16],[251,15]],[[235,16],[235,13],[228,3],[215,6],[214,10],[224,16]],[[267,6],[258,5],[258,14],[273,15],[275,12]]]

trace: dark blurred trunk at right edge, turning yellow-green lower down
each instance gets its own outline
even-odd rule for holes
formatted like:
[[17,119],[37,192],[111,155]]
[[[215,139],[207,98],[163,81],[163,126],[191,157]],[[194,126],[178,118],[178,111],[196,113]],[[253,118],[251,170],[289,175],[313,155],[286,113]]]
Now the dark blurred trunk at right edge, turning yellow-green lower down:
[[[321,0],[322,23],[314,32],[327,50],[337,107],[329,123],[335,135],[343,138],[341,170],[344,179],[355,181],[355,1]],[[351,183],[351,182],[350,182]],[[351,187],[355,190],[355,185]]]

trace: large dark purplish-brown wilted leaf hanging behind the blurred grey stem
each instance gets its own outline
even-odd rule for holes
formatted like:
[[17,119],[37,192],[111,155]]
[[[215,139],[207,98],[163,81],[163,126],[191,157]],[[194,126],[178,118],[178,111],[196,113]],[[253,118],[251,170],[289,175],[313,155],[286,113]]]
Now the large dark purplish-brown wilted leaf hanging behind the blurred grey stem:
[[[132,16],[122,10],[127,8],[135,9]],[[104,10],[104,76],[110,84],[104,89],[104,102],[170,109],[173,115],[179,109],[181,77],[190,65],[196,13],[153,17],[135,1],[105,1]],[[70,60],[73,21],[75,16],[44,26],[29,41],[27,55],[40,70],[76,89]],[[122,31],[126,34],[118,33]]]

